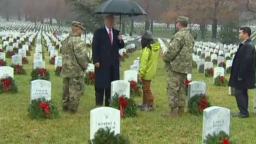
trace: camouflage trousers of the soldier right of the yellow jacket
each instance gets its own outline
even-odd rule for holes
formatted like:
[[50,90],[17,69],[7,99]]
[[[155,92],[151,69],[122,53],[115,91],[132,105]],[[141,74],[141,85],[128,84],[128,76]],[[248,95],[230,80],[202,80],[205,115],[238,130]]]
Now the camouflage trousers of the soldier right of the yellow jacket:
[[171,108],[185,106],[186,88],[185,80],[187,74],[176,71],[168,71],[167,96]]

